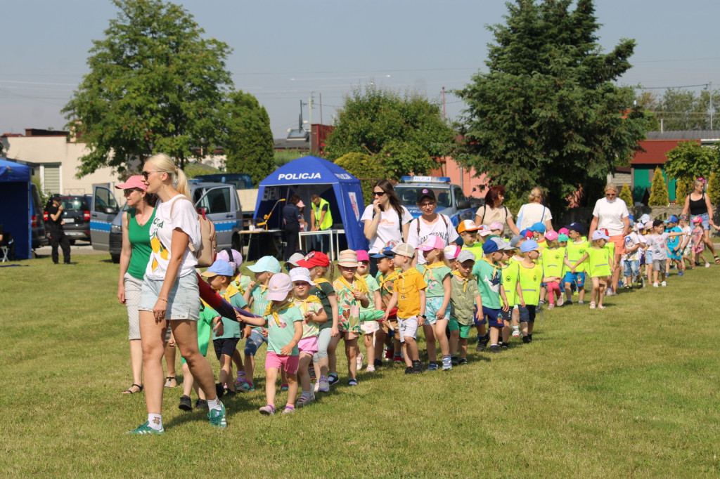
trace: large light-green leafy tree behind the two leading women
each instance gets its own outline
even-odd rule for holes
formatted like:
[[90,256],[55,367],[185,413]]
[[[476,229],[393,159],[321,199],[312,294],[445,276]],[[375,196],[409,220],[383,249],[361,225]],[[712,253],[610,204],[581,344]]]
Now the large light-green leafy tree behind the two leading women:
[[104,40],[94,40],[84,76],[63,108],[67,127],[86,142],[78,176],[111,166],[120,172],[153,152],[184,167],[215,144],[221,106],[232,86],[224,42],[181,6],[161,0],[113,0],[120,10]]

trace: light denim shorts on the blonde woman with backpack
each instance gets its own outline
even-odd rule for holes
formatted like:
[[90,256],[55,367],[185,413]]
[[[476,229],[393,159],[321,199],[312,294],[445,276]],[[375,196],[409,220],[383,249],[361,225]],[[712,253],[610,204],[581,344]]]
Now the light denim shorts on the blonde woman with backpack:
[[[163,280],[143,278],[143,290],[140,292],[140,311],[153,311],[158,302]],[[189,319],[197,321],[200,315],[200,291],[195,273],[176,278],[168,293],[165,319]]]

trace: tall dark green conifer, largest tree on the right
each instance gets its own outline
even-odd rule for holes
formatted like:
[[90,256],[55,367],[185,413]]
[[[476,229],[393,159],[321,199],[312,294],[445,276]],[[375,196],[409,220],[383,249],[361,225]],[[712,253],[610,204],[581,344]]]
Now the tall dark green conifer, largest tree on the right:
[[633,89],[614,83],[635,42],[600,53],[591,0],[507,5],[505,24],[490,27],[487,73],[456,91],[467,104],[459,160],[510,190],[544,186],[554,207],[580,186],[594,201],[645,137]]

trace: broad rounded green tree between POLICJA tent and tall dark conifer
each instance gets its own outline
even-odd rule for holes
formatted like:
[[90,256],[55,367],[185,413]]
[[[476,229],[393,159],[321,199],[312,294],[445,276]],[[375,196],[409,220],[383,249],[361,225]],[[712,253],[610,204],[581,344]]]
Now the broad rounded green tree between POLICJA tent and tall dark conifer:
[[372,83],[345,97],[325,153],[336,160],[347,153],[380,154],[384,174],[399,178],[428,173],[449,155],[454,133],[438,104],[418,93],[399,93]]

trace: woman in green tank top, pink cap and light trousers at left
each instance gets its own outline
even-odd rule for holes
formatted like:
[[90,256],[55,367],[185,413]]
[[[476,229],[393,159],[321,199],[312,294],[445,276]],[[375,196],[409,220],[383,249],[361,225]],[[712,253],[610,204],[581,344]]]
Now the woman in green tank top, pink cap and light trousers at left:
[[[117,281],[117,299],[127,306],[130,324],[130,366],[132,386],[123,394],[143,391],[143,345],[140,342],[140,290],[143,275],[150,260],[150,223],[155,218],[158,197],[146,190],[143,177],[133,175],[125,183],[115,186],[122,190],[129,210],[122,215],[122,252],[120,252],[120,278]],[[168,350],[171,354],[168,355]],[[175,347],[166,347],[168,376],[175,380]]]

